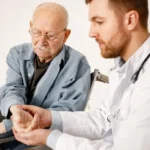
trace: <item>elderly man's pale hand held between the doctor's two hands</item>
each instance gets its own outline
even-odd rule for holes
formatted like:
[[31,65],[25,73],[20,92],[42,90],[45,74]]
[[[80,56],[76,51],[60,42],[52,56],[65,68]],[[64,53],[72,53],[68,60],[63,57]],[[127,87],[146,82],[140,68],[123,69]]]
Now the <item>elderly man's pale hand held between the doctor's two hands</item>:
[[33,116],[29,112],[24,111],[18,105],[11,106],[10,111],[12,113],[11,119],[12,119],[13,127],[17,132],[21,132],[21,131],[27,132],[30,126],[36,128],[35,125],[33,125],[33,123],[35,121],[37,122],[38,120],[37,116],[33,118]]

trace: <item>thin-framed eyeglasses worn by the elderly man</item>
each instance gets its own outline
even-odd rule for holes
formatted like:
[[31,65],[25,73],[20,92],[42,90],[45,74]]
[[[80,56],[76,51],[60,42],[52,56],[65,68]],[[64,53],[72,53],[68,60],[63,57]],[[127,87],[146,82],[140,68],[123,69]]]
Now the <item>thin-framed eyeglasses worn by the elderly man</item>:
[[47,33],[44,33],[44,34],[43,34],[41,31],[38,31],[38,30],[36,30],[36,29],[30,29],[30,30],[29,30],[29,33],[30,33],[31,37],[33,37],[33,38],[39,38],[39,37],[41,37],[41,36],[46,36],[46,38],[47,38],[48,40],[54,41],[54,40],[58,39],[60,33],[64,32],[65,30],[66,30],[66,29],[60,31],[60,32],[57,33],[57,34],[56,34],[56,33],[53,33],[53,34],[52,34],[52,32],[51,32],[51,33],[50,33],[50,32],[47,32]]

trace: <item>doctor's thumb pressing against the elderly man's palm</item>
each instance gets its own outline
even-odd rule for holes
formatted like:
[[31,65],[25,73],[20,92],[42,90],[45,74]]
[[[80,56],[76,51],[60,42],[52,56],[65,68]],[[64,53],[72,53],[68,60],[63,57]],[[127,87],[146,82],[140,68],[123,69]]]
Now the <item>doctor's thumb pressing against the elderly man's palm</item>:
[[38,129],[39,128],[39,120],[40,120],[39,116],[37,114],[35,114],[32,122],[31,122],[31,125],[25,130],[25,132],[29,132],[34,129]]

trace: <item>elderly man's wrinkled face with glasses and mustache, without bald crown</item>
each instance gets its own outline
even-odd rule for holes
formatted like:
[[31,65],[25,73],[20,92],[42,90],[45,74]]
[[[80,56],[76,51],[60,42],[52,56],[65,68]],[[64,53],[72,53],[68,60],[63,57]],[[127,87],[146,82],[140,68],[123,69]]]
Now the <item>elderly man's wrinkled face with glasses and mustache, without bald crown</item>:
[[62,49],[70,31],[66,30],[59,14],[40,10],[30,23],[34,52],[41,62],[51,61]]

